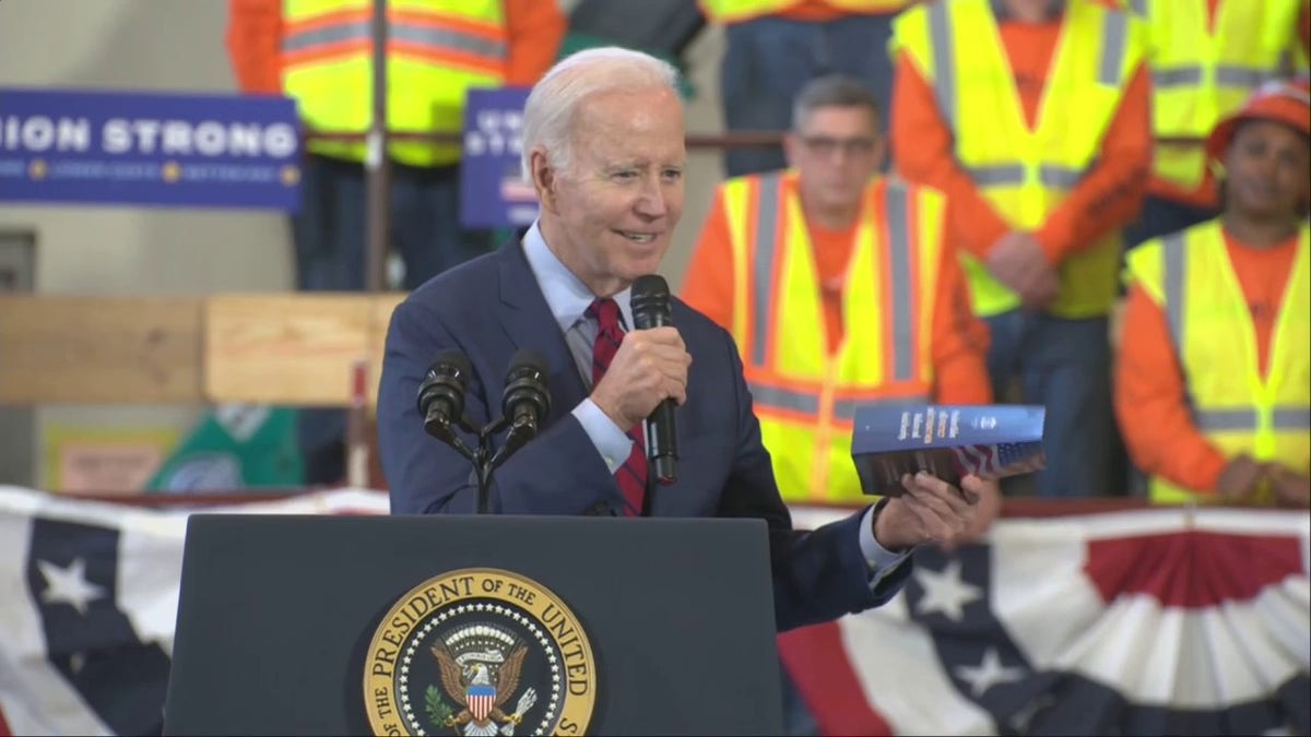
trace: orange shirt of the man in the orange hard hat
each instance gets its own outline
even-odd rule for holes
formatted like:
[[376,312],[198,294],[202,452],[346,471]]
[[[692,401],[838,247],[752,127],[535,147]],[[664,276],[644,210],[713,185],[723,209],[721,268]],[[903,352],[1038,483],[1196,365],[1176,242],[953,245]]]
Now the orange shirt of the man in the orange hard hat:
[[[1264,375],[1298,236],[1274,248],[1255,248],[1224,233],[1230,262],[1247,299]],[[1214,340],[1232,340],[1215,336]],[[1184,371],[1175,354],[1165,312],[1134,285],[1125,307],[1116,362],[1116,416],[1134,464],[1152,476],[1214,493],[1228,459],[1193,425]]]

